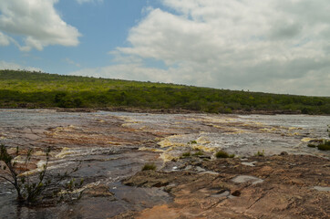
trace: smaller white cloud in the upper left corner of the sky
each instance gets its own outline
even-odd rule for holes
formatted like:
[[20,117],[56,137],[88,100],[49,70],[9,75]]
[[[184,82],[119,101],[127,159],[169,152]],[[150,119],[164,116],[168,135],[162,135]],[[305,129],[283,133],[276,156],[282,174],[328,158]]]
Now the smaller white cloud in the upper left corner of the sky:
[[[0,1],[0,45],[8,35],[23,36],[25,45],[15,45],[23,51],[42,50],[49,45],[77,46],[77,28],[69,26],[58,15],[54,5],[58,0]],[[6,35],[5,35],[5,34]],[[8,44],[8,41],[6,41]]]

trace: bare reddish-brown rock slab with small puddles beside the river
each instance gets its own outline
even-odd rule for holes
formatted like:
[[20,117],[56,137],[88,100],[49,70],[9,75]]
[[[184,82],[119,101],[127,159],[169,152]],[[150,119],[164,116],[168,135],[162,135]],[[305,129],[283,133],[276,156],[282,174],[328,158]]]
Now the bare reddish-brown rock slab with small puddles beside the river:
[[329,160],[284,155],[249,161],[257,162],[254,167],[240,159],[201,162],[219,175],[138,172],[124,183],[163,185],[174,201],[118,218],[329,218]]

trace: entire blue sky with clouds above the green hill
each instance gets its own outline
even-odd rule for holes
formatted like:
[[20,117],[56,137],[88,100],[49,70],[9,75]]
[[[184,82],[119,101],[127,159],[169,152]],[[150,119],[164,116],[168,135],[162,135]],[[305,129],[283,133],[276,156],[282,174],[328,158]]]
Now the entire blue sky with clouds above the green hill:
[[1,0],[0,69],[330,96],[328,0]]

